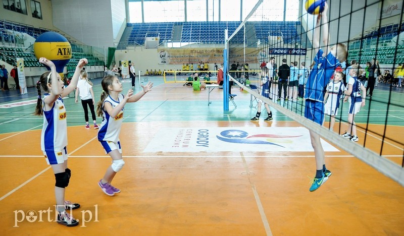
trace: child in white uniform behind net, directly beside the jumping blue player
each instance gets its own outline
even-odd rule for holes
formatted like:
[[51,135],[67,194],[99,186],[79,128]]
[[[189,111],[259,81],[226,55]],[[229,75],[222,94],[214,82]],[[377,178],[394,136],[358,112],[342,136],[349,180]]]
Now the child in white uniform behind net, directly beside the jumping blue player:
[[324,114],[330,115],[330,130],[334,130],[335,116],[338,115],[339,98],[343,91],[346,90],[344,83],[341,82],[344,74],[337,71],[334,74],[334,80],[327,85],[327,90],[324,95]]

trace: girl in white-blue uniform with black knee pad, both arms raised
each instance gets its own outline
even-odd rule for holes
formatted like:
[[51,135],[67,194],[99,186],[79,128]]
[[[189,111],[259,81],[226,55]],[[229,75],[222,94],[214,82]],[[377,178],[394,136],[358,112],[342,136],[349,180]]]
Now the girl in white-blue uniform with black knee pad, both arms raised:
[[[50,72],[43,73],[36,84],[38,101],[34,114],[43,115],[41,150],[55,174],[56,210],[58,211],[56,221],[66,226],[76,226],[79,221],[66,212],[67,209],[79,208],[80,204],[65,201],[65,188],[69,185],[71,170],[67,167],[66,108],[62,97],[68,96],[76,88],[81,68],[87,64],[87,59],[79,61],[73,78],[66,88],[52,61],[41,57],[39,63],[51,69]],[[45,92],[43,100],[41,90]]]

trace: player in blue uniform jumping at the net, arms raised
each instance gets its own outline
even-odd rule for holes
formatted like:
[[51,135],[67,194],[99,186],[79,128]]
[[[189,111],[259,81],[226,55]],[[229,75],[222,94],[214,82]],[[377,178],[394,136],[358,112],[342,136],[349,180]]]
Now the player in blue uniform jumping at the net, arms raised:
[[[319,14],[314,28],[313,48],[318,52],[314,58],[315,64],[307,80],[305,93],[305,117],[320,126],[323,125],[324,121],[325,88],[339,63],[345,61],[347,54],[346,45],[340,43],[334,46],[329,45],[327,10],[328,4],[325,3],[324,11]],[[320,31],[323,36],[323,43],[327,46],[325,52],[320,48]],[[331,171],[325,167],[324,149],[320,142],[320,135],[312,130],[309,132],[316,158],[316,175],[310,187],[310,192],[313,192],[328,180]]]

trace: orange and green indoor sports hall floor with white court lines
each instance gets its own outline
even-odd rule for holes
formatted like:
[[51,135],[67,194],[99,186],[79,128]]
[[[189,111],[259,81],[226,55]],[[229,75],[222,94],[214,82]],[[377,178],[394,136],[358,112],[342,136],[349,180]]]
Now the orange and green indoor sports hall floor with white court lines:
[[[0,93],[0,234],[404,234],[404,188],[376,169],[328,145],[326,162],[333,174],[311,193],[314,153],[308,131],[295,128],[300,126],[296,122],[276,110],[272,122],[263,120],[265,111],[259,122],[251,122],[256,108],[249,107],[245,91],[235,88],[237,108],[230,103],[230,110],[223,111],[220,89],[212,91],[208,106],[207,90],[164,84],[161,77],[149,81],[155,83],[153,91],[125,106],[120,139],[126,164],[113,181],[121,193],[113,197],[97,185],[111,158],[97,141],[97,130],[84,129],[81,104],[64,99],[72,169],[66,199],[81,204],[73,211],[80,225],[72,228],[49,222],[55,220],[55,178],[40,150],[43,117],[32,115],[36,90],[30,88],[28,95]],[[98,98],[100,79],[93,82]],[[130,83],[123,84],[126,94]],[[387,89],[379,85],[374,97],[385,97]],[[392,96],[404,101],[402,90]],[[371,126],[377,129],[386,108],[372,106],[371,112]],[[404,110],[390,107],[388,115],[386,132],[403,137]],[[367,116],[363,109],[358,123]],[[266,140],[278,145],[234,144],[225,131],[251,137],[272,132]],[[214,132],[207,140],[206,133]],[[276,136],[280,133],[299,137],[282,139]],[[200,146],[188,145],[191,135]],[[359,137],[358,145],[363,145],[363,133]],[[292,146],[286,151],[280,148],[287,145]],[[391,142],[386,146],[383,155],[401,164],[402,147]]]

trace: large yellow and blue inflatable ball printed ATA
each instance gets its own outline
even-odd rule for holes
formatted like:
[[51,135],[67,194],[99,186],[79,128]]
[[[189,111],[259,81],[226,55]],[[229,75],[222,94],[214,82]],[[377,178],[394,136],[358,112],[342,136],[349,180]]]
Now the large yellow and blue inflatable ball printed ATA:
[[63,73],[63,69],[72,58],[72,47],[63,35],[48,31],[39,35],[35,40],[34,53],[38,60],[40,57],[45,57],[52,61],[56,66],[56,71]]

